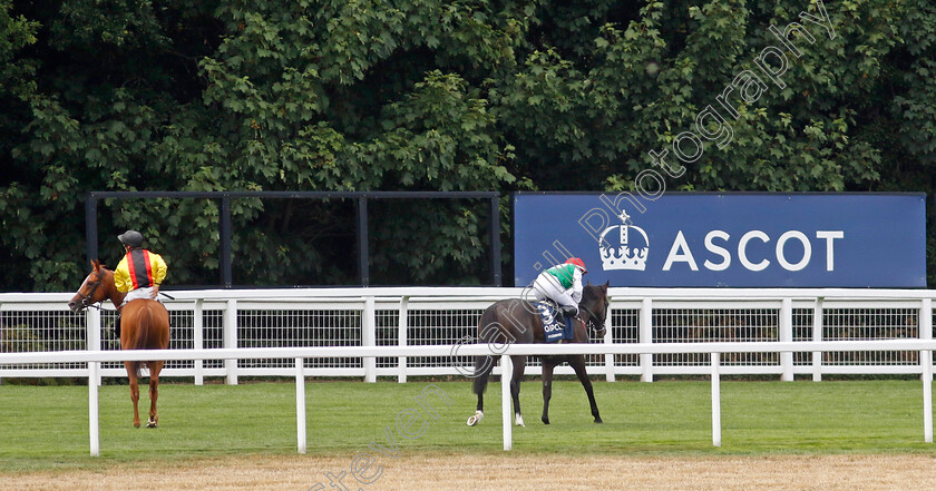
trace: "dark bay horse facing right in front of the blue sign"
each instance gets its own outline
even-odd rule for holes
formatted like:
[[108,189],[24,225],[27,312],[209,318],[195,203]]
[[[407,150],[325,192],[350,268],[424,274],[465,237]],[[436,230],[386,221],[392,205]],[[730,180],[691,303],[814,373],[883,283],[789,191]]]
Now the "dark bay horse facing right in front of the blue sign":
[[[594,328],[598,336],[605,333],[605,315],[607,313],[607,283],[604,285],[586,285],[582,292],[582,302],[578,304],[578,317],[574,320],[573,343],[587,343],[588,328]],[[479,343],[545,343],[543,332],[543,320],[536,307],[527,301],[506,299],[489,306],[478,323]],[[592,415],[595,423],[602,423],[598,414],[598,405],[595,403],[595,394],[592,389],[592,381],[585,371],[584,355],[566,356],[543,356],[543,423],[549,424],[549,399],[553,396],[553,370],[556,365],[568,362],[575,370],[578,381],[588,395],[588,403],[592,405]],[[514,400],[515,422],[524,426],[524,418],[520,414],[520,382],[524,377],[526,356],[510,356],[514,365],[514,374],[510,379],[510,396]],[[474,426],[484,418],[484,393],[487,389],[487,380],[490,375],[496,359],[494,355],[475,357],[474,392],[478,394],[478,407],[475,414],[468,419],[468,425]]]

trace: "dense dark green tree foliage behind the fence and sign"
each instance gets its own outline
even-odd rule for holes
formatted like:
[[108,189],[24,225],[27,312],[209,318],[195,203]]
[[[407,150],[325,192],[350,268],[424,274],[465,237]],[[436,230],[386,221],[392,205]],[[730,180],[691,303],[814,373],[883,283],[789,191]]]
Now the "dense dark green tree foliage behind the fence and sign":
[[[825,7],[835,37],[816,0],[0,0],[0,288],[75,287],[89,190],[632,189],[794,21],[784,87],[666,188],[929,192],[936,8]],[[172,283],[217,281],[218,203],[100,212],[105,259],[136,227]],[[485,204],[369,212],[374,283],[487,281]],[[232,213],[235,283],[355,282],[352,203]]]

